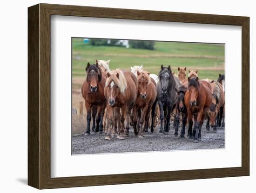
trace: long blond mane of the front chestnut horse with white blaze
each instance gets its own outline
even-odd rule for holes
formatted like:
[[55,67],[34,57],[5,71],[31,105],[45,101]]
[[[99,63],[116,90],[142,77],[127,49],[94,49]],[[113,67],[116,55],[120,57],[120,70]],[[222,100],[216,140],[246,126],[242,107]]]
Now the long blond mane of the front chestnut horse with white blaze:
[[[116,77],[116,74],[119,74],[119,78]],[[107,78],[105,86],[108,86],[112,81],[118,86],[120,92],[124,94],[124,91],[127,89],[127,80],[123,75],[123,72],[120,69],[115,71],[109,71],[110,77]]]

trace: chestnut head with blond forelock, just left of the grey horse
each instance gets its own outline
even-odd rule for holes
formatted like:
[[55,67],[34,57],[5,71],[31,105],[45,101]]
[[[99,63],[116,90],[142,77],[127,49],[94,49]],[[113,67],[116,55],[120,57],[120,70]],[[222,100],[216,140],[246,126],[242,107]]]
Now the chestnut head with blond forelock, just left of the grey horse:
[[145,99],[147,97],[148,84],[151,81],[149,74],[150,74],[150,72],[147,72],[147,71],[141,71],[141,72],[137,71],[138,92],[142,99]]

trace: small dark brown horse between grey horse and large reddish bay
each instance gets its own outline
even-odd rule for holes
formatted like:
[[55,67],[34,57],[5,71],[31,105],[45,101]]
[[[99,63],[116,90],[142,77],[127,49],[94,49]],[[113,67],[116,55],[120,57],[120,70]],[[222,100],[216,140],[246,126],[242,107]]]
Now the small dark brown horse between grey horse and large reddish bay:
[[187,118],[188,118],[188,111],[185,105],[185,94],[187,92],[188,88],[185,85],[180,85],[178,89],[175,89],[177,93],[177,100],[176,100],[176,109],[177,114],[175,117],[175,133],[174,135],[178,135],[179,130],[179,122],[180,122],[180,114],[182,114],[182,130],[181,130],[181,138],[184,138],[185,136],[185,127],[187,124]]

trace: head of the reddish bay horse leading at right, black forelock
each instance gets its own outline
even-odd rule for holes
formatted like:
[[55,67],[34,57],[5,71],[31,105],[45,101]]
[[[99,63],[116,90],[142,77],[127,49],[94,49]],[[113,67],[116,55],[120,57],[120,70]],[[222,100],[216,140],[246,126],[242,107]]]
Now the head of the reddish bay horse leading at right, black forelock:
[[200,86],[198,77],[193,77],[193,78],[188,77],[188,81],[189,81],[188,89],[190,93],[190,105],[195,106],[197,102],[197,97],[199,95],[199,86]]

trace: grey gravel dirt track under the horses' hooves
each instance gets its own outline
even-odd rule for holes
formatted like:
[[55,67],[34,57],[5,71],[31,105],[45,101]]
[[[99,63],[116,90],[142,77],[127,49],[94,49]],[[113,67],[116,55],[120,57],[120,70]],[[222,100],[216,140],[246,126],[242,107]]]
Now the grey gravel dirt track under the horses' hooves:
[[[105,134],[99,135],[77,135],[72,137],[72,154],[97,154],[97,153],[121,153],[121,152],[146,152],[146,151],[168,151],[186,149],[210,149],[225,148],[224,129],[217,129],[217,133],[206,132],[205,123],[202,126],[202,141],[198,143],[189,142],[187,137],[176,137],[173,126],[169,135],[159,133],[159,128],[153,134],[149,133],[144,138],[135,137],[130,127],[130,134],[125,140],[113,138],[111,141],[104,140]],[[179,129],[180,133],[181,127]]]

